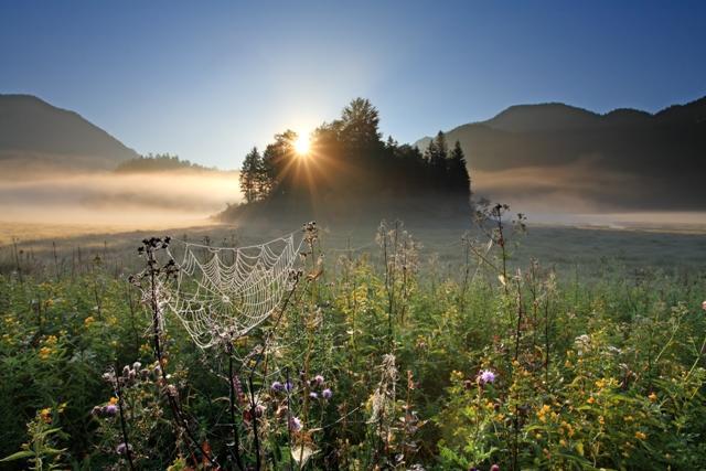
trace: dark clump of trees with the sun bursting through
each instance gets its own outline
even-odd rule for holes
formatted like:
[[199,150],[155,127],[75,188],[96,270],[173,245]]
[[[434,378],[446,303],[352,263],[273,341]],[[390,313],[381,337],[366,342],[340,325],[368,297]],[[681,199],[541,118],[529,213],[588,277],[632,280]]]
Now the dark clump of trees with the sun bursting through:
[[306,156],[297,153],[297,132],[287,130],[264,151],[253,148],[247,153],[239,176],[246,202],[312,195],[470,199],[458,141],[449,148],[439,131],[422,153],[392,137],[383,140],[379,113],[367,99],[352,100],[339,119],[317,128]]

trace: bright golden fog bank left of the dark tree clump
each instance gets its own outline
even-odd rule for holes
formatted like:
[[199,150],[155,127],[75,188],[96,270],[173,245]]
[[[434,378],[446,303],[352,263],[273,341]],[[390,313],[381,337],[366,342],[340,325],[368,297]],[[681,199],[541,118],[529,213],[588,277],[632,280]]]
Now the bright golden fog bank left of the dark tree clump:
[[239,199],[236,172],[6,173],[0,176],[0,225],[3,233],[28,225],[79,232],[183,227],[207,223]]

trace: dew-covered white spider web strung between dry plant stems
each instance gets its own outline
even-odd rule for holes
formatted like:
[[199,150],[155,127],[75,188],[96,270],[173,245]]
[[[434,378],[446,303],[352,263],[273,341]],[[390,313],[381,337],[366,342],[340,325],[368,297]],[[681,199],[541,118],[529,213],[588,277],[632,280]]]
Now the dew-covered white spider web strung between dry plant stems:
[[302,242],[296,245],[295,233],[249,247],[184,242],[175,287],[165,303],[201,349],[246,335],[291,290]]

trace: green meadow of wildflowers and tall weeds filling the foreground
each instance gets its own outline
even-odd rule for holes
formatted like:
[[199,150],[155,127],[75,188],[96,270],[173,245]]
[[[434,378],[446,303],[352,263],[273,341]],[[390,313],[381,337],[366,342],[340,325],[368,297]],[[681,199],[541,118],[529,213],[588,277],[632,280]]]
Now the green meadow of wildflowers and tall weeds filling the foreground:
[[6,244],[3,469],[705,469],[705,236],[488,216],[298,232],[280,309],[206,350],[163,247],[281,228]]

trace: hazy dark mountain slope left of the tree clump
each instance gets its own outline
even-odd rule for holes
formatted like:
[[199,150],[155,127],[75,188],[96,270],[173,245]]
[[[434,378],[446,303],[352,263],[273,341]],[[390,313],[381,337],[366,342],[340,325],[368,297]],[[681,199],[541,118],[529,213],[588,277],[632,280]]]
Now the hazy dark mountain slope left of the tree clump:
[[0,162],[114,169],[138,154],[78,114],[30,95],[0,95]]

